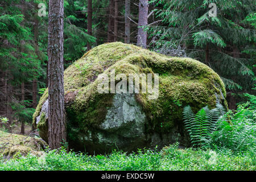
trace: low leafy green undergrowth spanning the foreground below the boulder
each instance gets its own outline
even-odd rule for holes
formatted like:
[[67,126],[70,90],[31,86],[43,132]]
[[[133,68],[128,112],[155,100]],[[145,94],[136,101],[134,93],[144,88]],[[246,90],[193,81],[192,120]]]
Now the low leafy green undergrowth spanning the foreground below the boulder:
[[251,152],[234,153],[230,150],[195,150],[181,149],[178,144],[172,144],[156,150],[138,150],[126,154],[113,151],[109,155],[89,156],[82,153],[48,151],[37,157],[31,154],[4,160],[0,157],[0,170],[255,170],[255,154]]

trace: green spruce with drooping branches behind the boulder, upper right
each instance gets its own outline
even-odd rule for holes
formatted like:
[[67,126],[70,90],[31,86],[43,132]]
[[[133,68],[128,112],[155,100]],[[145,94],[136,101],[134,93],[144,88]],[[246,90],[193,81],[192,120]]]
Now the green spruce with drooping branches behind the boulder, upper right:
[[[185,45],[185,55],[216,71],[228,93],[251,92],[255,55],[249,50],[256,34],[245,19],[255,11],[253,1],[152,2],[158,7],[157,18],[162,20],[160,26],[148,27],[155,49],[178,49]],[[213,5],[216,5],[216,16],[210,14]]]

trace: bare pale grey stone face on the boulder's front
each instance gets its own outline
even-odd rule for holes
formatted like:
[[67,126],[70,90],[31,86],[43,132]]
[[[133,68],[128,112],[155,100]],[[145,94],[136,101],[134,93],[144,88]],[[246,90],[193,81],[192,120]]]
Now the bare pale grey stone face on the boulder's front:
[[112,131],[123,137],[144,137],[146,114],[136,102],[134,94],[115,94],[113,106],[108,109],[102,130]]

